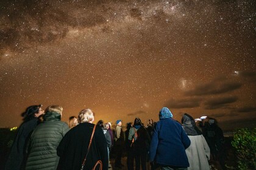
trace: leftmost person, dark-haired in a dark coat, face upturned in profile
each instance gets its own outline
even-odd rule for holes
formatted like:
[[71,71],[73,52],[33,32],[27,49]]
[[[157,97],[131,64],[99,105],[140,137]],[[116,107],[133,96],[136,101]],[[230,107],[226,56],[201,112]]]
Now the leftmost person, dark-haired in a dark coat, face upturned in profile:
[[29,106],[26,112],[22,114],[24,116],[24,122],[19,127],[15,140],[13,141],[10,155],[5,165],[6,170],[24,169],[27,157],[26,146],[28,138],[40,122],[39,117],[44,114],[41,106],[41,104]]

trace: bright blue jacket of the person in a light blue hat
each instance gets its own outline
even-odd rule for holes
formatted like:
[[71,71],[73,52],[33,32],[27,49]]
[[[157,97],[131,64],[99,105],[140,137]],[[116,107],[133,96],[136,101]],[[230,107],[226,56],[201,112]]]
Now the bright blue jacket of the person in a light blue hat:
[[172,118],[157,122],[152,135],[150,160],[159,165],[188,167],[185,149],[190,146],[190,139],[180,123]]

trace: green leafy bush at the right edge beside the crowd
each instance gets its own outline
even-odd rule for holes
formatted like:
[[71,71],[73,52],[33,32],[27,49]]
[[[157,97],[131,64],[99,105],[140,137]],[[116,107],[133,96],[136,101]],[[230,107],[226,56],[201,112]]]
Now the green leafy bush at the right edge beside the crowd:
[[256,169],[256,128],[236,130],[232,146],[237,159],[236,168]]

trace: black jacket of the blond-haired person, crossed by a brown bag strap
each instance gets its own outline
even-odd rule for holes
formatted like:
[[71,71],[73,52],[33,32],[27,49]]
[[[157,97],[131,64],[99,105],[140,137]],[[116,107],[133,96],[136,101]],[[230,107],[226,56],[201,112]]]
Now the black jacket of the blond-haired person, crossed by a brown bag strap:
[[[80,123],[65,135],[57,148],[57,154],[60,156],[58,169],[77,170],[81,168],[90,143],[93,126],[94,124],[91,123]],[[107,141],[101,127],[96,126],[84,169],[93,169],[98,160],[102,161],[102,169],[107,170]]]

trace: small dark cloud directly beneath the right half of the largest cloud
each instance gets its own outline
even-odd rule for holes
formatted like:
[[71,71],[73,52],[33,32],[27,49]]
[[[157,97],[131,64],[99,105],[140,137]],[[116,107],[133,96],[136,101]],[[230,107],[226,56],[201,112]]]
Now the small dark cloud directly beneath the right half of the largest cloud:
[[205,101],[205,109],[218,109],[229,106],[230,103],[234,103],[238,100],[238,97],[224,97],[224,98],[213,98]]

